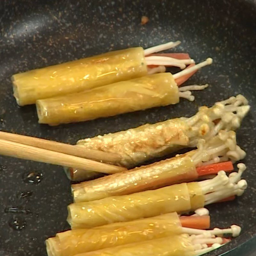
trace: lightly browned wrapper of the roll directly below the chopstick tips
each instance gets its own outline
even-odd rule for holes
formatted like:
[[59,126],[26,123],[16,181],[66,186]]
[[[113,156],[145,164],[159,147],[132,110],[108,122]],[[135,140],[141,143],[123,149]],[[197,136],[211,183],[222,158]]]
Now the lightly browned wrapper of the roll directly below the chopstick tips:
[[74,202],[88,202],[196,180],[197,177],[195,164],[188,154],[184,154],[127,172],[74,184],[72,193]]

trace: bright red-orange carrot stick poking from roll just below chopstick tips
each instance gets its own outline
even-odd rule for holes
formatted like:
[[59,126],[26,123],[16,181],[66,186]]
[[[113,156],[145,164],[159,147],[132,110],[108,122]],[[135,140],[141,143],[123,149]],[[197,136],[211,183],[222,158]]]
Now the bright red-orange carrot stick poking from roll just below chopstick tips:
[[231,172],[234,170],[234,166],[231,161],[209,164],[196,168],[198,176],[217,174],[219,171]]

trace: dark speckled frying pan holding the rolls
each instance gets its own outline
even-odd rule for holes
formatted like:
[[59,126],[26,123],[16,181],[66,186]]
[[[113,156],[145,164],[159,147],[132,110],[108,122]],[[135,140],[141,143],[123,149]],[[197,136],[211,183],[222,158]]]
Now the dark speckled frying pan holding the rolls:
[[[144,26],[140,24],[142,15],[149,18]],[[256,1],[2,0],[0,130],[75,143],[106,132],[191,116],[199,105],[212,105],[242,93],[252,106],[237,132],[238,144],[247,152],[244,177],[249,188],[233,202],[209,207],[213,227],[232,223],[242,226],[240,237],[209,254],[220,255],[256,235],[255,32]],[[211,85],[196,92],[193,103],[181,100],[176,106],[49,127],[37,123],[35,106],[20,108],[12,97],[12,74],[110,50],[149,47],[172,40],[182,41],[174,51],[189,52],[198,62],[209,56],[214,60],[211,67],[197,72],[187,83]],[[68,229],[70,182],[59,166],[2,156],[0,165],[0,255],[45,256],[44,240]],[[24,182],[23,175],[30,172],[42,173],[41,182]],[[20,198],[25,191],[32,191],[32,195]],[[10,206],[23,206],[32,212],[19,214],[27,223],[22,230],[9,227],[14,214],[5,213],[4,209]]]

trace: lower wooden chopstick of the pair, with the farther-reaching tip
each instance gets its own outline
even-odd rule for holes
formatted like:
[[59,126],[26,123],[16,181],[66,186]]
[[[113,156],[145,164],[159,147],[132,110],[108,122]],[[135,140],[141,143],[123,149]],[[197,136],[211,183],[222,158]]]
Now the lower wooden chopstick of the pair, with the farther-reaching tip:
[[109,174],[127,170],[124,167],[112,164],[105,164],[90,159],[71,156],[48,149],[36,148],[33,146],[2,139],[0,139],[0,155],[12,156],[48,164],[57,164],[71,167],[74,166],[87,171],[103,172]]

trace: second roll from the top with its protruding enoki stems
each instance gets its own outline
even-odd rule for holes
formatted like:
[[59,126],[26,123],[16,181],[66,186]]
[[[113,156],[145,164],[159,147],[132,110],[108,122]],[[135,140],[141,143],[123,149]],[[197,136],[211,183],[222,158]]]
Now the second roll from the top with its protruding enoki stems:
[[[206,61],[189,68],[201,68],[212,63]],[[182,73],[183,70],[179,73]],[[108,84],[92,90],[36,101],[41,124],[66,124],[115,116],[147,108],[177,104],[180,97],[194,100],[189,90],[179,91],[171,73],[159,73]],[[203,90],[207,85],[192,86],[191,90]]]

